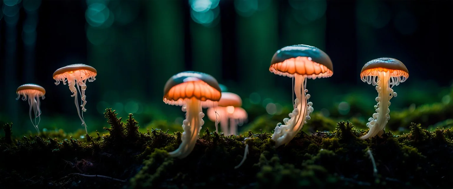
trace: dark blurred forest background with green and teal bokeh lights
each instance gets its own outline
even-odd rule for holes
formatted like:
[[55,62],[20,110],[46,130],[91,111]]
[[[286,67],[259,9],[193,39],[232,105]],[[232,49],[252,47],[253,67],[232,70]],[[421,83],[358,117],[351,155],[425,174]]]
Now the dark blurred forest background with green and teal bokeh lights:
[[98,71],[87,83],[92,131],[105,125],[106,107],[135,113],[143,125],[181,121],[180,107],[164,104],[162,93],[168,78],[186,70],[211,74],[246,109],[272,103],[272,113],[282,113],[291,106],[291,79],[270,73],[269,64],[293,44],[316,46],[333,61],[331,78],[307,83],[315,111],[351,100],[372,110],[376,91],[359,74],[381,57],[410,72],[394,88],[391,111],[449,101],[451,0],[4,0],[1,13],[0,121],[24,130],[34,130],[27,102],[15,100],[24,83],[47,91],[41,126],[82,128],[68,86],[52,79],[73,63]]

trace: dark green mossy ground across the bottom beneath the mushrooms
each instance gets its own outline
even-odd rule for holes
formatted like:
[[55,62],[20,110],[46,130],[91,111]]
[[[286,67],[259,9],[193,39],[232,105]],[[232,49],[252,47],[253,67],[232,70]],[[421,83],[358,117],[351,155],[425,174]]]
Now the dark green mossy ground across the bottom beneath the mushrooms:
[[[452,129],[427,131],[409,124],[406,134],[385,132],[362,141],[358,137],[366,131],[356,130],[351,122],[314,116],[311,124],[323,129],[311,135],[300,132],[277,149],[268,132],[220,136],[204,130],[187,158],[174,159],[167,152],[178,147],[180,132],[140,133],[131,114],[123,122],[110,109],[105,117],[111,125],[108,132],[84,139],[67,139],[62,131],[14,138],[14,126],[4,125],[0,188],[451,188],[453,184]],[[246,144],[247,159],[234,169]]]

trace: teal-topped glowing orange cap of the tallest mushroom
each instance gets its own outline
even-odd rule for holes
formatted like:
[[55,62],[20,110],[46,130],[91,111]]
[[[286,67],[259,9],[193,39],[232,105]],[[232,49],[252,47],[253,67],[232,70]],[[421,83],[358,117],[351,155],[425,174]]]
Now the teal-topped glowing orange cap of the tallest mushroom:
[[299,44],[278,50],[272,57],[269,71],[287,77],[299,74],[313,79],[328,78],[333,75],[333,65],[321,49]]

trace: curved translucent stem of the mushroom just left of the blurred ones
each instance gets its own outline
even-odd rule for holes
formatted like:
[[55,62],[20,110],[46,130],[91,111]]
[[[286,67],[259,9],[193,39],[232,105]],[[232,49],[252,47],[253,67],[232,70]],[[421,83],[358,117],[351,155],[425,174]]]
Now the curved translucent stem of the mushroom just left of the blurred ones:
[[195,147],[199,133],[204,124],[201,101],[196,98],[186,99],[186,119],[183,121],[182,143],[178,149],[169,152],[171,157],[185,158]]

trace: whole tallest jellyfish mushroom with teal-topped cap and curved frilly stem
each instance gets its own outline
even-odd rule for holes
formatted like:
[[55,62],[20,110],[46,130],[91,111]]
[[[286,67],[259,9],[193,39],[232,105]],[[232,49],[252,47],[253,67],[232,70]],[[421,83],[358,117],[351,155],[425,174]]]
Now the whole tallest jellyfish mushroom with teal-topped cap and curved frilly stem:
[[313,111],[313,103],[308,102],[310,95],[306,89],[307,78],[328,78],[333,75],[333,65],[329,56],[322,50],[308,45],[292,45],[278,50],[270,63],[269,71],[278,75],[294,78],[294,111],[290,118],[278,123],[271,139],[275,147],[288,144],[302,129],[309,114]]

